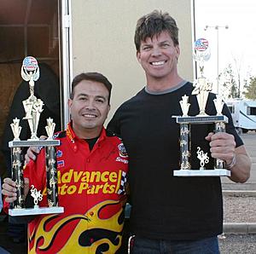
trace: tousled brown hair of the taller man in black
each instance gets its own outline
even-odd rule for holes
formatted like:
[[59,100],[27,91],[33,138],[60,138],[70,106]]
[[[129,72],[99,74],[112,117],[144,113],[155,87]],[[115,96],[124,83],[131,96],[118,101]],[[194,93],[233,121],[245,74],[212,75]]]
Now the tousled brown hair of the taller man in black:
[[134,36],[134,43],[139,52],[141,42],[147,38],[153,38],[161,32],[168,32],[172,38],[174,46],[178,45],[178,28],[176,21],[167,13],[154,10],[150,14],[143,15],[137,20],[137,26]]

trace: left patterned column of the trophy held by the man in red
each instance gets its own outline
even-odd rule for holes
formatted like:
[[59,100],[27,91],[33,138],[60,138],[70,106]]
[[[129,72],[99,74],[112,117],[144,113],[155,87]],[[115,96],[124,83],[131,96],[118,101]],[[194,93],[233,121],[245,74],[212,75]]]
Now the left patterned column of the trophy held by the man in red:
[[14,208],[25,207],[24,178],[22,170],[22,155],[20,147],[12,148],[12,179],[16,182],[17,199],[13,203]]

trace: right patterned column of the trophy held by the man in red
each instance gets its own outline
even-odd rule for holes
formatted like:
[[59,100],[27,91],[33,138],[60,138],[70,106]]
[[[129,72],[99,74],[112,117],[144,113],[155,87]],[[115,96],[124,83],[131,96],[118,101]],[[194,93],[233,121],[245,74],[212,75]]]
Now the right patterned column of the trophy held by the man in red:
[[57,163],[55,147],[46,147],[47,199],[49,207],[58,206]]

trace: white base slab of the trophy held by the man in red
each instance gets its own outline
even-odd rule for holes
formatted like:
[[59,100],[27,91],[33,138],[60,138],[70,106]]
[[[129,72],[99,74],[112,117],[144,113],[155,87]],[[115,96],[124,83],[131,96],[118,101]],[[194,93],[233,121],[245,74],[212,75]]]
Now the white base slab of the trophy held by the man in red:
[[35,207],[35,208],[17,208],[9,209],[9,216],[30,216],[39,214],[50,214],[50,213],[63,213],[64,207]]

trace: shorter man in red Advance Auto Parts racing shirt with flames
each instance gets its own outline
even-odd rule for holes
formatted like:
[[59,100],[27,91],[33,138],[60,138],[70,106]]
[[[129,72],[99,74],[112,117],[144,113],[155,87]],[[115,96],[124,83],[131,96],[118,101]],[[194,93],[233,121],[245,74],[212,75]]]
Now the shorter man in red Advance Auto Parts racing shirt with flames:
[[[59,205],[64,213],[35,216],[28,227],[29,253],[116,253],[124,225],[128,156],[122,141],[103,127],[112,85],[102,74],[73,79],[68,101],[72,121],[55,135]],[[29,185],[47,206],[44,149],[24,169]],[[27,181],[26,181],[27,182]],[[4,179],[6,203],[15,200],[15,182]]]

